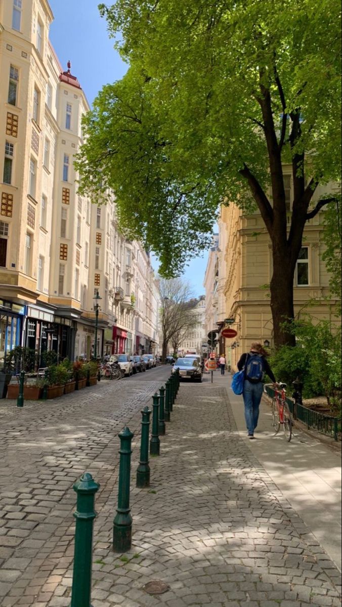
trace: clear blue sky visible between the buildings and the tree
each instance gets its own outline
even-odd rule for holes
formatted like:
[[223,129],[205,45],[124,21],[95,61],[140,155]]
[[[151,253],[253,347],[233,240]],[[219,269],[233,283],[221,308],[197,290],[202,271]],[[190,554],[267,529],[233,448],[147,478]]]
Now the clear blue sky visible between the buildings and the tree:
[[[52,46],[64,69],[70,59],[71,72],[77,76],[91,105],[103,85],[120,80],[128,66],[113,48],[106,21],[98,12],[99,0],[49,0],[49,4],[55,17],[50,26]],[[207,257],[205,253],[191,260],[183,275],[195,297],[204,293],[202,283]],[[157,270],[156,260],[153,264]]]

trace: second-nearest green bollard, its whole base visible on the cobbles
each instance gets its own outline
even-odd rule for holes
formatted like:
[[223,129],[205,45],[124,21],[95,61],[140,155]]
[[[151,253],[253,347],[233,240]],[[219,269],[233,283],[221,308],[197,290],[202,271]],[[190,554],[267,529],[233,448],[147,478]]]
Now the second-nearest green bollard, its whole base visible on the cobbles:
[[118,507],[113,526],[113,550],[114,552],[127,552],[132,544],[129,484],[131,480],[131,443],[134,434],[126,426],[118,436],[120,438],[120,467],[118,476]]

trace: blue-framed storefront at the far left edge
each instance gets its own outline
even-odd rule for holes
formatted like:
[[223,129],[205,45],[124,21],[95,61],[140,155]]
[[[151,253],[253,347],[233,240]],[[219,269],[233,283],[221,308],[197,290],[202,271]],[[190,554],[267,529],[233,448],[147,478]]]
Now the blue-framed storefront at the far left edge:
[[25,317],[25,305],[0,299],[0,365],[5,353],[8,354],[16,345],[22,345]]

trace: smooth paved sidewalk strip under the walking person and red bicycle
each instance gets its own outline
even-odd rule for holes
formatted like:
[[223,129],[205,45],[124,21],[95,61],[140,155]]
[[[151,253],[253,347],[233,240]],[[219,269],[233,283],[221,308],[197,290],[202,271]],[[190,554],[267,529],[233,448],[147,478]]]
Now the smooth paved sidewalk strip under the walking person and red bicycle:
[[290,443],[282,431],[275,436],[267,398],[260,407],[256,440],[248,440],[242,396],[231,390],[231,376],[217,373],[215,383],[227,390],[239,435],[341,570],[341,452],[296,426]]

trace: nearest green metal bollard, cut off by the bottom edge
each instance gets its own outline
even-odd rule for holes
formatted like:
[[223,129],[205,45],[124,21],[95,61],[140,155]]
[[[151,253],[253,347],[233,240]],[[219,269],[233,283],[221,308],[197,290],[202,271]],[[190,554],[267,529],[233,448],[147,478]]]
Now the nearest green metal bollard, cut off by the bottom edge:
[[91,607],[92,531],[97,516],[94,501],[99,487],[89,472],[84,472],[74,484],[77,510],[74,512],[76,530],[70,607]]

